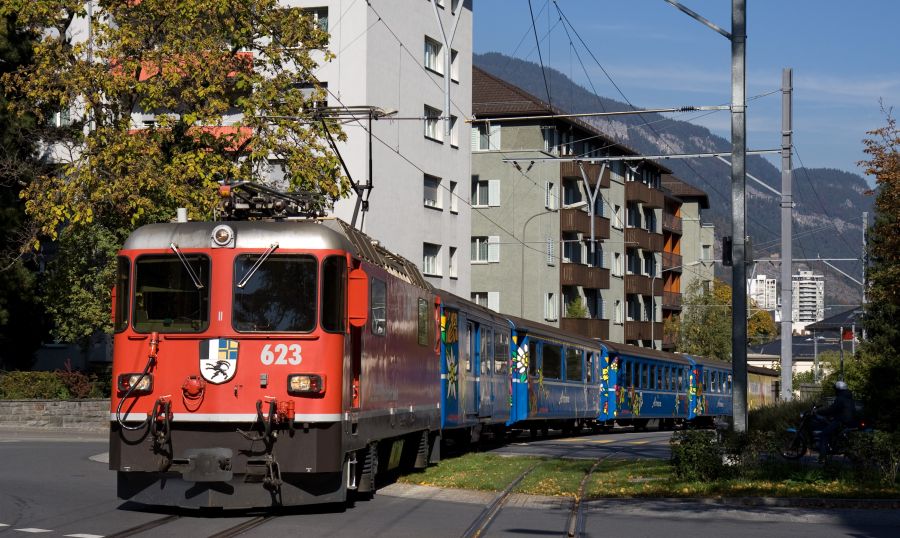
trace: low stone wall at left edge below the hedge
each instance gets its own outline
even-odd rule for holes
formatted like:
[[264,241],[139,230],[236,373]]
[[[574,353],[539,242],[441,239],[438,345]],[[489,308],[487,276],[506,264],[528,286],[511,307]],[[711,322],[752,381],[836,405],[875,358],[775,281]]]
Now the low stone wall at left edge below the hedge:
[[0,400],[0,429],[109,431],[109,400]]

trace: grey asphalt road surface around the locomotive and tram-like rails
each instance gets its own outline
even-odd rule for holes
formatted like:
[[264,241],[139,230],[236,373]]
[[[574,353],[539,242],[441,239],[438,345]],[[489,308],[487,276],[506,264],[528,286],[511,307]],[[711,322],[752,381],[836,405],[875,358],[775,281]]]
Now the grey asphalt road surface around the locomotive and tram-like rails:
[[[513,442],[501,453],[600,457],[628,450],[667,457],[665,432],[617,432]],[[247,522],[241,536],[462,536],[492,493],[394,484],[371,501],[330,509],[229,514],[148,510],[115,496],[103,462],[105,438],[0,431],[0,535],[95,538],[148,526],[135,536],[212,536]],[[655,454],[655,455],[654,455]],[[93,458],[93,459],[92,459]],[[513,496],[485,536],[561,536],[568,499]],[[894,537],[898,510],[729,506],[707,501],[598,500],[585,503],[583,536]],[[157,526],[150,526],[157,525]]]

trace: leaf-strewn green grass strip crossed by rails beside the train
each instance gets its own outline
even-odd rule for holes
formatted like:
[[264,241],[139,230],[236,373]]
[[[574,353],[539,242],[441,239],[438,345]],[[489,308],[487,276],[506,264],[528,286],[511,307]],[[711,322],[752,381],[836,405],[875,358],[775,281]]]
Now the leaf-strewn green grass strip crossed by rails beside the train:
[[[574,496],[591,460],[559,460],[466,454],[442,461],[401,482],[429,486],[499,491],[525,469],[535,470],[516,488],[531,495]],[[839,464],[808,467],[772,463],[739,478],[681,480],[666,460],[609,460],[601,463],[586,485],[585,497],[808,497],[900,499],[900,487],[859,481]]]

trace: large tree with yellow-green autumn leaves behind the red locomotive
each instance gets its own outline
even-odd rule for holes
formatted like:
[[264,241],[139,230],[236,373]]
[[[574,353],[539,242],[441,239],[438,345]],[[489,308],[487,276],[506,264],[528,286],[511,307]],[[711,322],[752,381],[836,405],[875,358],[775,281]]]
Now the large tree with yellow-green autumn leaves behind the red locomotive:
[[[278,177],[332,200],[347,195],[324,131],[343,134],[316,113],[326,95],[314,71],[330,53],[312,16],[279,0],[99,0],[90,18],[86,5],[0,4],[0,15],[41,36],[34,61],[2,77],[26,97],[12,111],[71,118],[53,141],[58,167],[22,192],[36,232],[29,245],[58,240],[74,256],[75,266],[58,259],[60,275],[107,278],[92,265],[108,265],[131,230],[176,207],[209,218],[223,180]],[[85,284],[93,295],[111,282]],[[58,321],[83,310],[74,295],[54,299]],[[90,318],[59,336],[106,328],[108,316]]]

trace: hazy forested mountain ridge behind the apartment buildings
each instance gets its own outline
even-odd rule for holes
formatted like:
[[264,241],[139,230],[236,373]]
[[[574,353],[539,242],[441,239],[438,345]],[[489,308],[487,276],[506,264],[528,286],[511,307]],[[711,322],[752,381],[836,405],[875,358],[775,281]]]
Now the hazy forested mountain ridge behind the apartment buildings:
[[[475,54],[475,66],[514,84],[540,99],[548,100],[541,67],[532,62],[499,53]],[[553,105],[572,113],[632,110],[626,103],[597,96],[574,83],[563,73],[547,69],[547,86]],[[730,151],[731,142],[705,127],[666,118],[659,114],[587,118],[599,130],[617,142],[645,155],[666,153],[706,153]],[[715,224],[716,237],[731,233],[731,165],[718,159],[667,160],[663,165],[682,181],[709,195],[710,209],[704,220]],[[781,191],[781,171],[760,156],[747,158],[747,173]],[[794,170],[793,253],[800,258],[860,258],[862,252],[863,212],[872,221],[874,197],[865,179],[857,174],[829,168]],[[747,230],[756,260],[778,258],[781,252],[781,197],[747,179]],[[716,254],[721,243],[717,241]],[[861,262],[833,262],[841,271],[862,280]],[[861,286],[822,262],[805,264],[825,274],[826,305],[853,305],[861,300]],[[800,267],[795,264],[793,272]],[[727,269],[727,268],[725,268]],[[780,266],[761,262],[757,273],[780,275]],[[716,274],[726,281],[731,271],[717,267]],[[748,271],[748,275],[750,272]],[[840,311],[826,312],[826,316]]]

